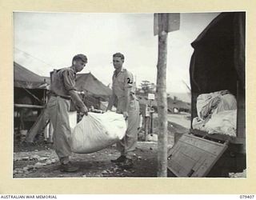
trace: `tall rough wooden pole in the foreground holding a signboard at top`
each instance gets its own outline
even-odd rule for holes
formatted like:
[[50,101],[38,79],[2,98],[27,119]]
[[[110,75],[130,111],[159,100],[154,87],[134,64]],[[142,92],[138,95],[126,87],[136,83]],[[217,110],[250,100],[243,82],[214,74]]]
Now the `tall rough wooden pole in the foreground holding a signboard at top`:
[[163,31],[168,23],[168,14],[158,15],[158,76],[157,76],[157,100],[158,100],[158,177],[167,176],[167,95],[166,95],[166,56],[167,33]]

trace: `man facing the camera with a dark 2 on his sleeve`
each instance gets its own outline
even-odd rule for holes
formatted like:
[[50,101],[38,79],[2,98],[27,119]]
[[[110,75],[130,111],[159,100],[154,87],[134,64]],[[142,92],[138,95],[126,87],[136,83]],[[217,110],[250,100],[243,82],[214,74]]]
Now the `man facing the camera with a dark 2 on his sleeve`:
[[117,143],[121,156],[111,162],[117,162],[121,166],[130,168],[133,166],[133,154],[138,141],[139,127],[139,104],[135,96],[134,77],[128,70],[122,67],[124,55],[117,53],[113,55],[114,74],[109,105],[106,110],[111,110],[117,102],[117,113],[123,114],[128,120],[126,135]]

